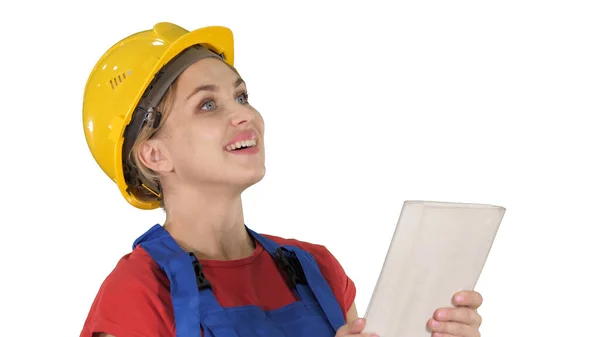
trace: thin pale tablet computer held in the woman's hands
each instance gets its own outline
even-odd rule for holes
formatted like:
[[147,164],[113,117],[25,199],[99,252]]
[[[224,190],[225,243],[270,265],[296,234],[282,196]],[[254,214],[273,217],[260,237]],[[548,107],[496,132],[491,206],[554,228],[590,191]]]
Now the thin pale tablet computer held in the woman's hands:
[[365,318],[381,337],[430,337],[434,311],[474,290],[505,208],[405,201]]

